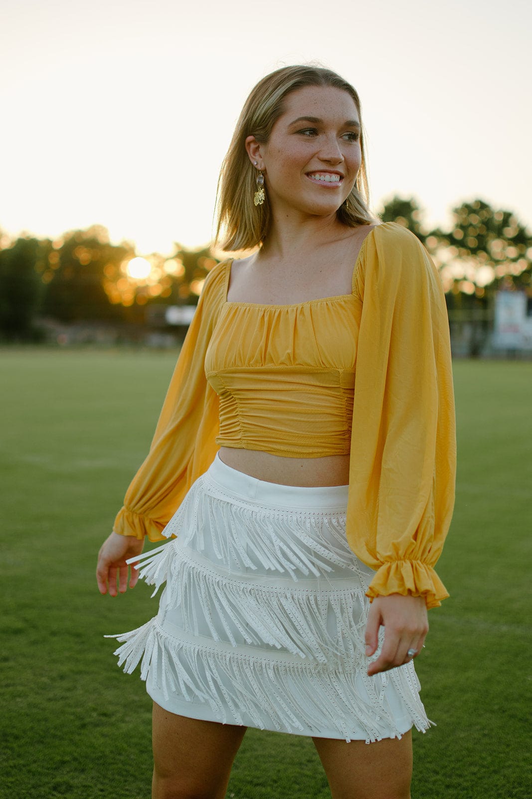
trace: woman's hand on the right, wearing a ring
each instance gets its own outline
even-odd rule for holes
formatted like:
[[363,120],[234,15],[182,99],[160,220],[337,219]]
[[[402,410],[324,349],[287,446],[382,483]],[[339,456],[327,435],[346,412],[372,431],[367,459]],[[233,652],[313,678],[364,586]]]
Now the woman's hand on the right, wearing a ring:
[[[384,626],[384,643],[379,657],[368,666],[368,674],[403,666],[420,654],[428,633],[427,606],[424,597],[389,594],[373,599],[366,625],[366,657],[379,646],[379,628]],[[408,650],[415,654],[408,654]]]

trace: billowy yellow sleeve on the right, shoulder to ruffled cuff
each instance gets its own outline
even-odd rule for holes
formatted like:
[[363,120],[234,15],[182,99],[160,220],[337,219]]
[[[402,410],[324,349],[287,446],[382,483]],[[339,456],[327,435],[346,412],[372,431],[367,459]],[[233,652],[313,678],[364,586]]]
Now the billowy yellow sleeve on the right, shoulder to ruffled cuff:
[[360,327],[347,537],[376,574],[367,595],[448,596],[434,566],[455,499],[455,409],[439,274],[408,230],[379,225],[355,282]]

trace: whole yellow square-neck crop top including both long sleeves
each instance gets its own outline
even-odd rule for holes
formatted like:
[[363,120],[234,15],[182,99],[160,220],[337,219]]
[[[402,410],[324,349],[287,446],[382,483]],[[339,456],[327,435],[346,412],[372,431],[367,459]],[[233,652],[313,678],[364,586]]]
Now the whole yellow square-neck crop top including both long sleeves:
[[[447,309],[428,252],[400,225],[377,225],[357,258],[352,295],[286,306],[228,303],[230,266],[207,276],[148,457],[113,529],[162,539],[222,443],[246,447],[250,436],[254,448],[311,457],[333,431],[335,451],[350,455],[349,546],[376,571],[368,596],[422,595],[439,605],[448,596],[434,566],[454,506],[455,413]],[[274,392],[280,412],[268,427]],[[313,452],[302,452],[307,415]]]

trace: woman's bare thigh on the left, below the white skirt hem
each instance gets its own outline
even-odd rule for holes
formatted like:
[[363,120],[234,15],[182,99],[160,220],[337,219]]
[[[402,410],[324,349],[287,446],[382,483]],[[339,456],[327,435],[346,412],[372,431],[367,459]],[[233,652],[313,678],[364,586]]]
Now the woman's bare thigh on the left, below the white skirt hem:
[[199,721],[153,703],[153,799],[225,797],[246,727]]

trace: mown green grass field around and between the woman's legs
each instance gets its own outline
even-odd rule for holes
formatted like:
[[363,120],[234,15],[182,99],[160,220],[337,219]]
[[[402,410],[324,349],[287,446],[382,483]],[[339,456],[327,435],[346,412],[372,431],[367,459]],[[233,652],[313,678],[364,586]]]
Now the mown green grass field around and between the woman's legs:
[[[101,597],[96,556],[144,458],[175,353],[0,352],[0,797],[148,799],[151,702],[105,633],[156,612]],[[412,799],[529,799],[532,364],[455,363],[459,477],[417,661],[429,717]],[[530,768],[530,767],[529,767]],[[326,799],[312,742],[250,730],[228,797]]]

